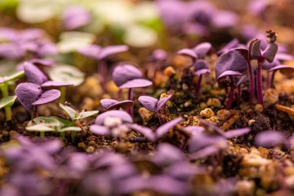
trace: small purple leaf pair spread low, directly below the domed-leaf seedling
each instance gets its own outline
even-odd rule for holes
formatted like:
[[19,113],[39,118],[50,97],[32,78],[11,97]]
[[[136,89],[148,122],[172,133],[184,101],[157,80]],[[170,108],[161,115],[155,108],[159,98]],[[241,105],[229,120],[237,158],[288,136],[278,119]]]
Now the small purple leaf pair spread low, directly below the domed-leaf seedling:
[[117,101],[115,99],[101,99],[100,100],[101,106],[106,110],[111,109],[129,109],[134,105],[134,102],[131,100],[125,100],[125,101]]

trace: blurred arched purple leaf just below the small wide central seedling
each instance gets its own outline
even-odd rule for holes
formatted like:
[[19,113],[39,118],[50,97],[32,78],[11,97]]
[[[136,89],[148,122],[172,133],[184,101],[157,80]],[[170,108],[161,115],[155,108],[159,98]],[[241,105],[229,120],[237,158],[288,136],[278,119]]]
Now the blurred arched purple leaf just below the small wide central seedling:
[[106,117],[116,117],[116,118],[120,118],[123,122],[133,123],[132,117],[126,111],[110,110],[110,111],[106,111],[106,112],[100,114],[99,116],[97,116],[97,118],[95,120],[95,124],[96,125],[103,125]]

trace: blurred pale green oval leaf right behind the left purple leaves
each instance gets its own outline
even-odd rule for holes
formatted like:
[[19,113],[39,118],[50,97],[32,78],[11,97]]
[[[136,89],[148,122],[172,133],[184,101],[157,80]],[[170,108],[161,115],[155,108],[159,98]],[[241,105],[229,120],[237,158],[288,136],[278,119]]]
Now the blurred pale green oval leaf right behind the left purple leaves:
[[85,74],[72,65],[57,65],[48,72],[51,80],[55,82],[67,82],[79,86],[84,82]]

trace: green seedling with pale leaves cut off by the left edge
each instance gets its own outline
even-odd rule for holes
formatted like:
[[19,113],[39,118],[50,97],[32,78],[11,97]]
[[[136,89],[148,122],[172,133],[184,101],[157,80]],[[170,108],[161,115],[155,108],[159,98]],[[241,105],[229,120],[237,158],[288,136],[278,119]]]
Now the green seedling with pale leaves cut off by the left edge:
[[1,93],[2,93],[2,99],[0,99],[0,109],[5,109],[5,115],[6,115],[6,121],[10,121],[12,119],[12,110],[11,106],[13,106],[16,96],[9,96],[8,94],[8,85],[10,83],[14,83],[17,79],[23,77],[24,71],[19,71],[17,73],[14,73],[8,77],[4,77],[3,79],[0,79],[0,87],[1,87]]

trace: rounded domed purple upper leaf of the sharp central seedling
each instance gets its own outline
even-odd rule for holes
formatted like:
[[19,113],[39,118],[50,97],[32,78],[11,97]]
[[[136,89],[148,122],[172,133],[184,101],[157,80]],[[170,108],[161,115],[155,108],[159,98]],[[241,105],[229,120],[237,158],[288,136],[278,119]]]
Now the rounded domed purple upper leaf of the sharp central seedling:
[[117,65],[112,72],[112,80],[116,86],[121,86],[132,79],[142,78],[143,74],[140,69],[131,64]]

